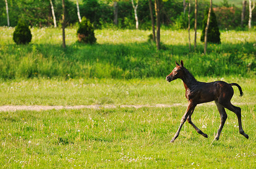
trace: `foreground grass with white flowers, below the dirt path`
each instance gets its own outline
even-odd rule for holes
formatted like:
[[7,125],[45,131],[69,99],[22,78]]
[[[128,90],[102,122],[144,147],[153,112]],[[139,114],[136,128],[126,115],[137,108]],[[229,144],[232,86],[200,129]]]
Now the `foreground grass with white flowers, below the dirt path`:
[[170,143],[185,106],[1,112],[3,168],[255,168],[255,104],[242,105],[249,140],[238,133],[232,112],[220,140],[213,105],[198,106]]

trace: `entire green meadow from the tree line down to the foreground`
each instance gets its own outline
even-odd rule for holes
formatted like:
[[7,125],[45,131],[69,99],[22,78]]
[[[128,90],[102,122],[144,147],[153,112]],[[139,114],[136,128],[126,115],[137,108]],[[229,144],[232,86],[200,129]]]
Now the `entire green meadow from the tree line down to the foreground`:
[[[161,30],[160,51],[148,42],[148,30],[96,30],[97,44],[81,45],[76,29],[67,28],[66,49],[60,29],[32,28],[26,46],[15,45],[13,31],[0,28],[0,106],[100,108],[0,112],[2,168],[256,168],[255,32],[223,31],[221,45],[209,44],[203,55],[199,41],[189,51],[186,30]],[[170,143],[187,100],[182,81],[168,83],[165,76],[181,59],[199,81],[240,84],[244,96],[234,86],[232,103],[242,109],[249,139],[227,110],[220,140],[213,142],[219,112],[202,104],[192,120],[208,139],[185,123]]]

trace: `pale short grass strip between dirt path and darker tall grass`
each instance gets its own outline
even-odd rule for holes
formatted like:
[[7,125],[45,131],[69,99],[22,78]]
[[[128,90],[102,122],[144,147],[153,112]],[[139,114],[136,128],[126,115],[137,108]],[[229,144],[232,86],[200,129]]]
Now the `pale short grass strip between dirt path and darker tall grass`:
[[[198,81],[238,83],[232,103],[255,103],[254,78],[196,77]],[[168,83],[165,78],[146,79],[42,79],[0,83],[0,105],[186,105],[184,84],[180,79]]]

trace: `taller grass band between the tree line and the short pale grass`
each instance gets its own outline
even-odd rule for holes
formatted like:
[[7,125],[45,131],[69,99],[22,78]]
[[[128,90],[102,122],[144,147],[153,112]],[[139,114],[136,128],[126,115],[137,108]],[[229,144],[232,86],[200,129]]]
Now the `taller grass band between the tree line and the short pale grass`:
[[[174,60],[184,60],[194,75],[255,75],[255,32],[221,33],[221,45],[203,43],[189,51],[186,30],[162,30],[163,49],[148,42],[147,30],[96,30],[97,45],[76,42],[76,30],[32,28],[32,43],[17,46],[13,28],[0,28],[0,78],[145,78],[164,77]],[[199,37],[200,33],[198,34]],[[193,37],[191,37],[193,39]],[[198,38],[199,39],[199,38]]]

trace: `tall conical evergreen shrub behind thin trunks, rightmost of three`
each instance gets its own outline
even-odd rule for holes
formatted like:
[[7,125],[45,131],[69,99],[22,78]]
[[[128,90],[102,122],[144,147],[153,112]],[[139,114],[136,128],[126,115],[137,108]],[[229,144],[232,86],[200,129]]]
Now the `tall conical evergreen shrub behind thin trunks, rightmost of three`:
[[[201,42],[204,42],[207,19],[208,19],[208,10],[204,12],[203,32],[200,38]],[[210,24],[207,32],[207,42],[220,43],[220,31],[217,25],[217,20],[216,20],[216,15],[214,13],[214,10],[211,10]]]

